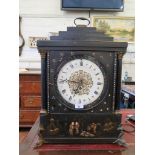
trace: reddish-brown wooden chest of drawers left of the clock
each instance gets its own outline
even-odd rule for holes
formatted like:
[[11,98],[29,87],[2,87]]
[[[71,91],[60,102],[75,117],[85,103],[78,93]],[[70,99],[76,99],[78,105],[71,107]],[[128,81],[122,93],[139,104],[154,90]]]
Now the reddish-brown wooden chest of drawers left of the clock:
[[19,125],[31,127],[39,116],[41,107],[40,74],[19,75]]

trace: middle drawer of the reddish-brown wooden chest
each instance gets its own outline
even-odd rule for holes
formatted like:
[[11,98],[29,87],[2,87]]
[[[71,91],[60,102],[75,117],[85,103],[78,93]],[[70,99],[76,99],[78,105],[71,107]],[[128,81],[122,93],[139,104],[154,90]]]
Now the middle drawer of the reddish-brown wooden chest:
[[21,108],[40,108],[41,96],[21,96]]

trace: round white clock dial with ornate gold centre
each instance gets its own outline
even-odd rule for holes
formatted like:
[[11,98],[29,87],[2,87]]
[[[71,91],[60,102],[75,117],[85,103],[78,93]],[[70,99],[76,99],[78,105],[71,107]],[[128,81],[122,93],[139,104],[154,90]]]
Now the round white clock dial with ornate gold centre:
[[101,96],[103,88],[103,71],[89,59],[70,60],[58,72],[58,92],[75,109],[83,109],[84,106],[95,102]]

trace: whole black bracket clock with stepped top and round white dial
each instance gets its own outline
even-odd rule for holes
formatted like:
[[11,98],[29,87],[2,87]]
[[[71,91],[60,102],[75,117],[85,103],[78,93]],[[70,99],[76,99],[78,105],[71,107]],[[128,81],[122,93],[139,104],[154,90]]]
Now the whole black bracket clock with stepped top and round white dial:
[[[84,18],[82,18],[84,20]],[[68,27],[38,41],[42,143],[113,143],[120,134],[122,56],[127,43],[95,27]]]

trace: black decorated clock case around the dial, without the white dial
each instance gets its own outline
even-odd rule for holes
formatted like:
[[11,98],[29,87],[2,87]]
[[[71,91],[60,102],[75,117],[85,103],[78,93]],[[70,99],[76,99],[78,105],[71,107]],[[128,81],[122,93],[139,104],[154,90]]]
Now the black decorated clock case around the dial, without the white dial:
[[[120,103],[122,57],[126,42],[113,42],[95,27],[68,27],[50,40],[37,41],[41,54],[42,143],[113,143],[121,130]],[[71,107],[58,92],[60,66],[78,57],[95,59],[104,70],[104,89],[94,103],[83,109]],[[65,64],[65,63],[64,63]]]

